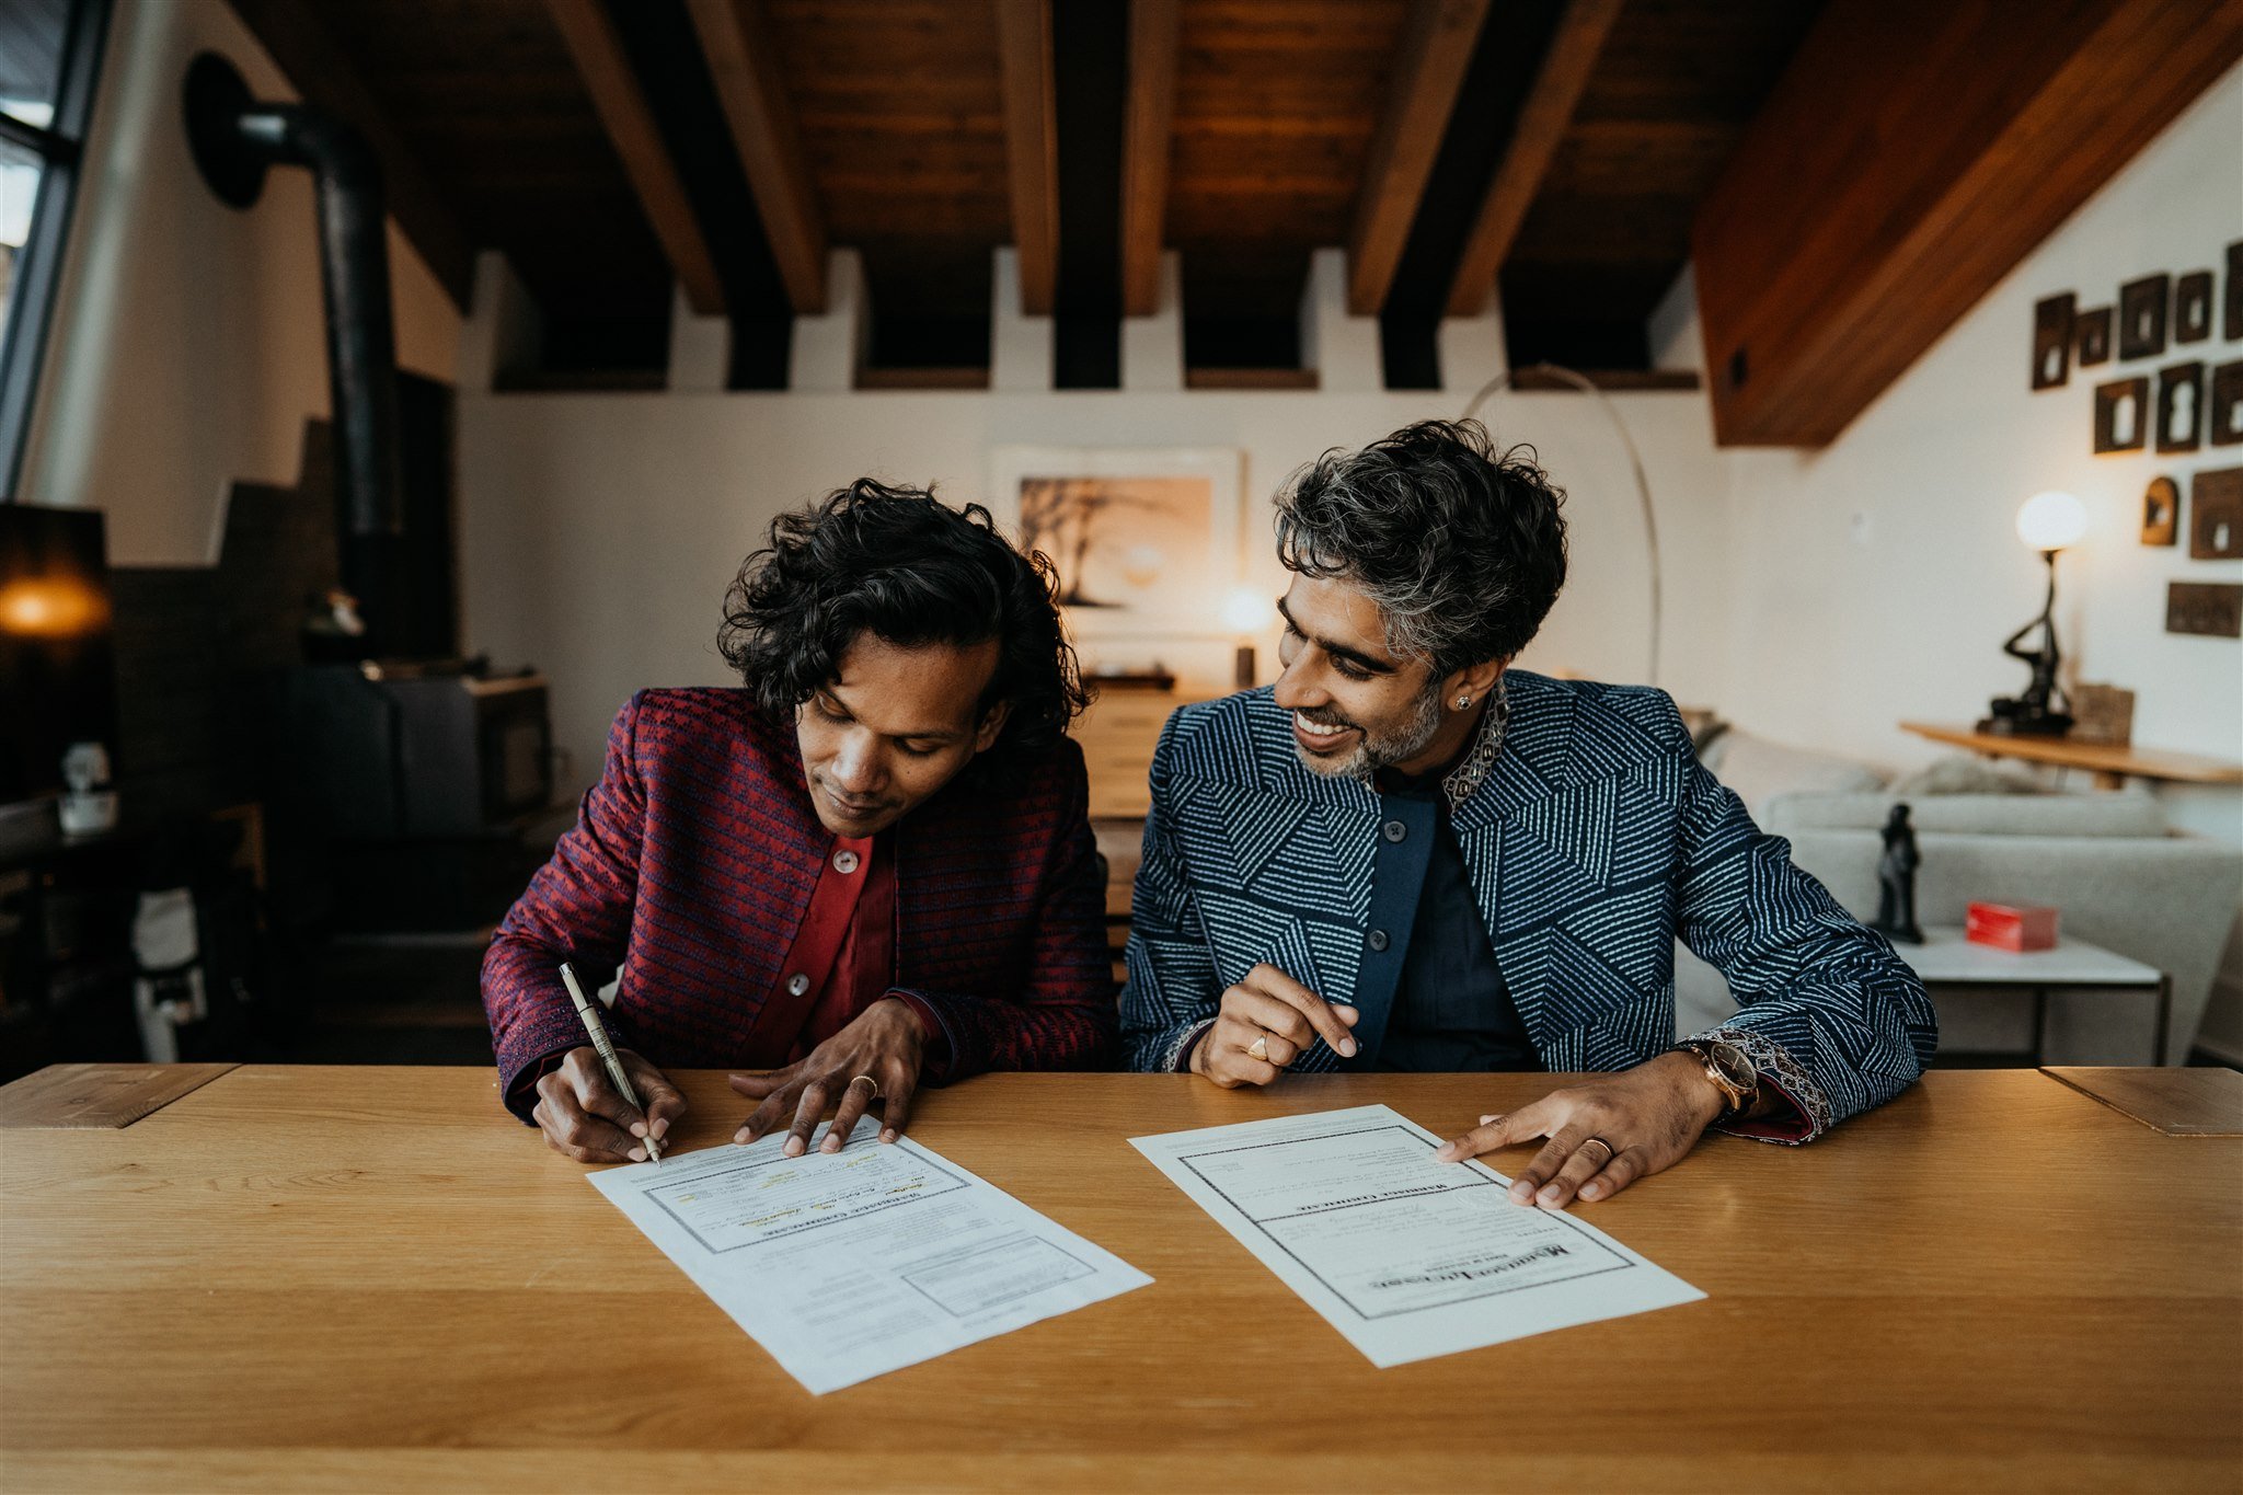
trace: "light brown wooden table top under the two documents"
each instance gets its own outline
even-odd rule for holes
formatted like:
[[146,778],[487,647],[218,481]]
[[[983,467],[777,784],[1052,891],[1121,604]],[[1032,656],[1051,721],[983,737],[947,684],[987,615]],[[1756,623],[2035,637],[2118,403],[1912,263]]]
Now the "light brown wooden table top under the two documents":
[[[740,1118],[680,1076],[680,1145]],[[1373,1369],[1128,1145],[1545,1076],[985,1076],[913,1134],[1155,1284],[810,1396],[484,1069],[0,1132],[4,1488],[2234,1488],[2243,1139],[1933,1071],[1586,1219],[1705,1302]],[[1516,1168],[1525,1150],[1496,1168]]]

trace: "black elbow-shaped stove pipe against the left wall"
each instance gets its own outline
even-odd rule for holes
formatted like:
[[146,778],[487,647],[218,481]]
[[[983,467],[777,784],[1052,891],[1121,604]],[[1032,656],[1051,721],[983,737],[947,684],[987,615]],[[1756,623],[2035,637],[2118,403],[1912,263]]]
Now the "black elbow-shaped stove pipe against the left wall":
[[258,199],[269,166],[312,170],[341,509],[354,536],[401,536],[381,161],[363,134],[325,110],[251,99],[233,65],[209,52],[186,72],[186,132],[204,182],[238,208]]

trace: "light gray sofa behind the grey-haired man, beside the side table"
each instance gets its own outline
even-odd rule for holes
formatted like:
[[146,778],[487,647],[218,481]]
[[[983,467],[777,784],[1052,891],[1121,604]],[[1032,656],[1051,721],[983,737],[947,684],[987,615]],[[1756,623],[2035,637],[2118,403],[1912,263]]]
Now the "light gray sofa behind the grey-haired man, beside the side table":
[[[2059,908],[2064,935],[2173,977],[2162,1062],[2187,1060],[2243,903],[2243,852],[2171,832],[2151,793],[2048,793],[2023,771],[1972,760],[1942,762],[1889,784],[1889,776],[1868,764],[1785,749],[1738,728],[1714,737],[1700,760],[1745,800],[1763,829],[1792,843],[1801,867],[1864,919],[1877,912],[1880,829],[1893,802],[1907,800],[1922,849],[1916,876],[1922,923],[1960,926],[1974,899]],[[1678,1031],[1702,1031],[1732,1011],[1736,1004],[1720,973],[1678,948]],[[2156,1062],[2151,1033],[2147,1004],[2059,995],[2048,1011],[2043,1062]],[[1942,1049],[2030,1044],[2025,995],[1974,995],[1940,1009]]]

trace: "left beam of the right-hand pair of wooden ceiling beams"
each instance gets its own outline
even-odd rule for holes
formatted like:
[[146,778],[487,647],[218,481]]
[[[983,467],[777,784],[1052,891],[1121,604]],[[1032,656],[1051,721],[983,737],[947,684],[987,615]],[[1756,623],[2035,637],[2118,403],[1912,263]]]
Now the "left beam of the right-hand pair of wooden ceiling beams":
[[1377,316],[1386,307],[1485,20],[1487,0],[1415,0],[1411,7],[1348,233],[1348,312],[1355,316]]

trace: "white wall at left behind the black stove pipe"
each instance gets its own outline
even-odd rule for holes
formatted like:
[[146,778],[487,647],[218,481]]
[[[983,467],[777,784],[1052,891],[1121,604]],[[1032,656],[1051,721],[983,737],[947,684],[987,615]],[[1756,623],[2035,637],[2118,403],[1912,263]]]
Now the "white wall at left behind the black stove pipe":
[[[327,412],[312,177],[211,195],[179,123],[204,49],[296,96],[224,0],[117,4],[25,459],[25,498],[108,511],[119,565],[215,563],[231,484],[294,484]],[[399,363],[449,381],[460,316],[395,224],[390,291]]]

